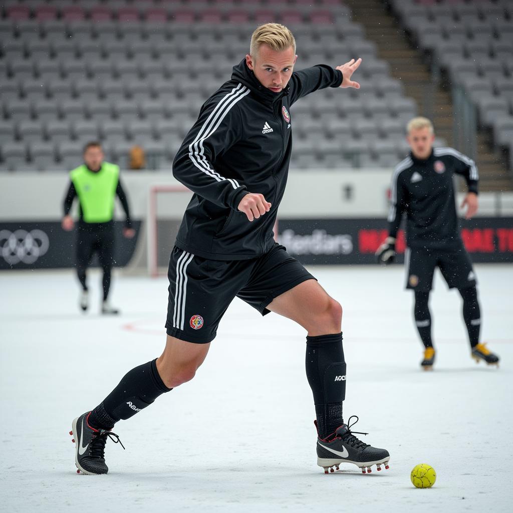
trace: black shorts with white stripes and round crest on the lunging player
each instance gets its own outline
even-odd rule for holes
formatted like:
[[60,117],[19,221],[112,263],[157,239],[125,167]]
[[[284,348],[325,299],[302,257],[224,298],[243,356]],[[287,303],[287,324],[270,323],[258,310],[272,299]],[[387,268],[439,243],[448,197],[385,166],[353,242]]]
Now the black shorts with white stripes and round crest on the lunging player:
[[173,248],[169,261],[167,334],[206,344],[215,338],[219,322],[235,297],[262,315],[280,294],[315,278],[275,244],[251,260],[207,260]]

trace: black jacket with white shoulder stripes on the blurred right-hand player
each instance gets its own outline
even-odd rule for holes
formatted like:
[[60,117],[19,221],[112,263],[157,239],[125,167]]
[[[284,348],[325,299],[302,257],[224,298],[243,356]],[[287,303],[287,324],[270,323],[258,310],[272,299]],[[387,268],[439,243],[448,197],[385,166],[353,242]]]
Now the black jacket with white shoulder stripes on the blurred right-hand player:
[[456,214],[454,174],[465,177],[469,192],[478,192],[478,169],[473,160],[453,148],[434,148],[426,160],[410,152],[394,171],[388,215],[395,237],[406,212],[409,247],[453,249],[461,244]]

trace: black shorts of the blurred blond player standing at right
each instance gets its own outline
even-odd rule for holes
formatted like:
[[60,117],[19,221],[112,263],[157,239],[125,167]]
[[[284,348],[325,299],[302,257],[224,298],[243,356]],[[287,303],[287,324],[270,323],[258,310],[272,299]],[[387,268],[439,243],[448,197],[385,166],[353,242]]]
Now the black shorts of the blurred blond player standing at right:
[[466,288],[477,283],[463,243],[452,250],[406,248],[404,258],[406,288],[426,292],[431,290],[435,267],[440,268],[449,288]]

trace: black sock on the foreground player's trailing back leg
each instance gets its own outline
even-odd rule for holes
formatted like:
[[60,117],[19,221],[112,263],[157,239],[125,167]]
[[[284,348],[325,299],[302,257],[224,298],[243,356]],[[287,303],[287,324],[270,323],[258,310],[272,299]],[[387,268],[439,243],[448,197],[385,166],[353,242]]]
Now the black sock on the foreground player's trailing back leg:
[[112,429],[115,422],[133,417],[169,390],[157,371],[156,360],[135,367],[91,411],[89,424],[96,429]]

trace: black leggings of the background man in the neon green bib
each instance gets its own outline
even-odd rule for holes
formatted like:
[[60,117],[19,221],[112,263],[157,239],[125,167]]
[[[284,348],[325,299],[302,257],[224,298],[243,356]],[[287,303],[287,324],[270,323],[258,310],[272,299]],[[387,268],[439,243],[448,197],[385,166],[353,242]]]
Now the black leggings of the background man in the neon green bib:
[[103,269],[103,300],[109,295],[110,271],[114,263],[114,226],[113,223],[81,223],[78,225],[76,241],[76,274],[82,288],[87,290],[86,269],[88,268],[94,252]]

